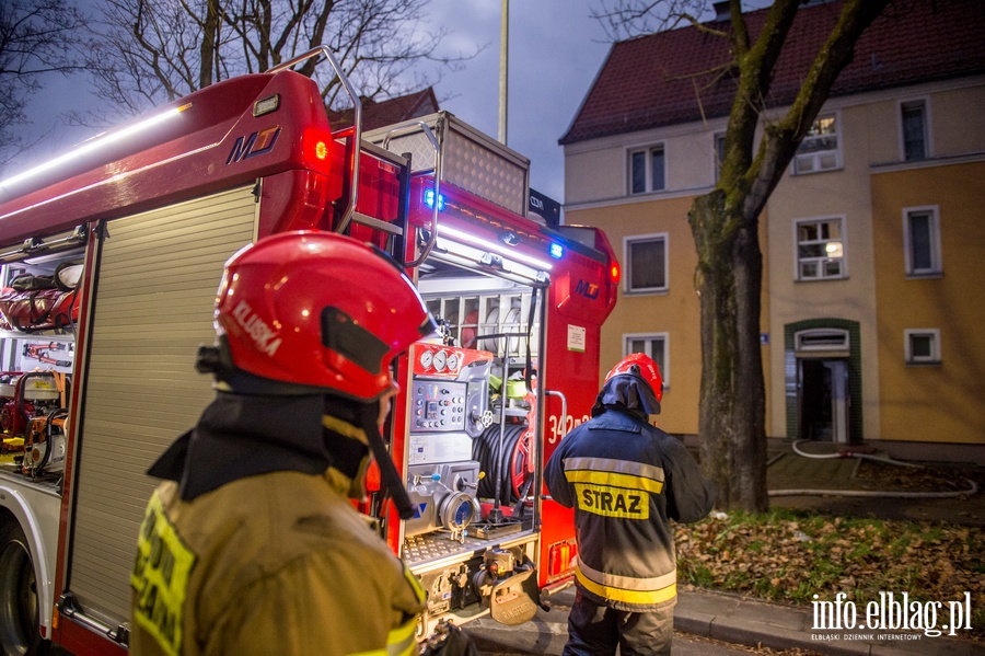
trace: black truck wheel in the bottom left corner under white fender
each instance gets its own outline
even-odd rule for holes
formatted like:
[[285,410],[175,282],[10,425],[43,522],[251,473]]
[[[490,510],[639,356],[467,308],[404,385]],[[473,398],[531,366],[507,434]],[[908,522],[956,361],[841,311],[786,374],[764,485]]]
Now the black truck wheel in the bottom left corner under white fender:
[[16,521],[0,525],[0,653],[37,656],[47,653],[42,640],[37,580],[27,538]]

